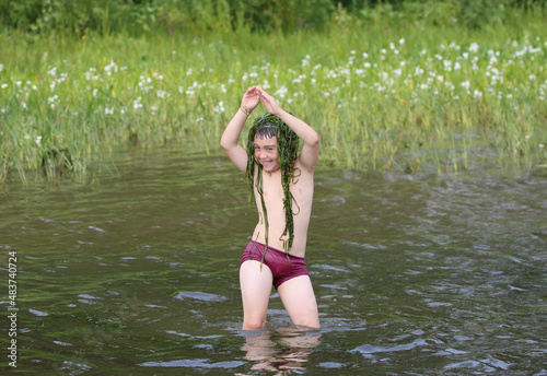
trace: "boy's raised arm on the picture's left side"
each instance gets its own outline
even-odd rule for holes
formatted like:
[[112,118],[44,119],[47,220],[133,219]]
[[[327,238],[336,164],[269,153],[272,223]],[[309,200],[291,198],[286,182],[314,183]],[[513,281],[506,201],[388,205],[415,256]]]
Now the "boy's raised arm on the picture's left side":
[[256,108],[260,102],[260,91],[253,86],[243,95],[241,107],[235,113],[232,120],[228,124],[226,129],[220,139],[220,145],[224,149],[228,157],[243,173],[247,168],[247,152],[238,143],[243,126],[248,118],[248,115]]

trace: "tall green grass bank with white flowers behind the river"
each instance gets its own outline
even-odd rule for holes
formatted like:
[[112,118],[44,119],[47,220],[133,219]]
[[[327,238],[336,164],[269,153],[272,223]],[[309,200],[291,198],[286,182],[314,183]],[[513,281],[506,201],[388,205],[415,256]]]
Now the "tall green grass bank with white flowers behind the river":
[[138,31],[108,14],[95,30],[3,20],[1,185],[96,181],[90,167],[124,148],[220,155],[222,130],[252,85],[313,125],[325,168],[547,167],[542,1],[501,1],[478,21],[451,0],[316,1],[325,4],[310,15],[323,20],[317,27],[276,15],[266,31],[246,23],[235,0],[200,2],[209,4],[201,22],[178,14],[183,32],[160,16]]

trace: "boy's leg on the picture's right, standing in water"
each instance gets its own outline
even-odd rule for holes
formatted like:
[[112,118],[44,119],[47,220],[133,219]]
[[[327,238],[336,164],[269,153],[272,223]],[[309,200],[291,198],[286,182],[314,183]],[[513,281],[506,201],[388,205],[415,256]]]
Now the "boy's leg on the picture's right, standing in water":
[[299,275],[278,286],[278,293],[294,325],[319,327],[317,302],[309,275]]

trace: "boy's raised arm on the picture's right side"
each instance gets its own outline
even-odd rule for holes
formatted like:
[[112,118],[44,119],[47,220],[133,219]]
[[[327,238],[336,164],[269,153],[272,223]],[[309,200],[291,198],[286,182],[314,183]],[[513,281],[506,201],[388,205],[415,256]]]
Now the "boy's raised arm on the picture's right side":
[[319,136],[306,122],[282,109],[271,95],[261,89],[259,91],[266,109],[288,125],[304,143],[300,162],[307,171],[313,172],[319,158]]

